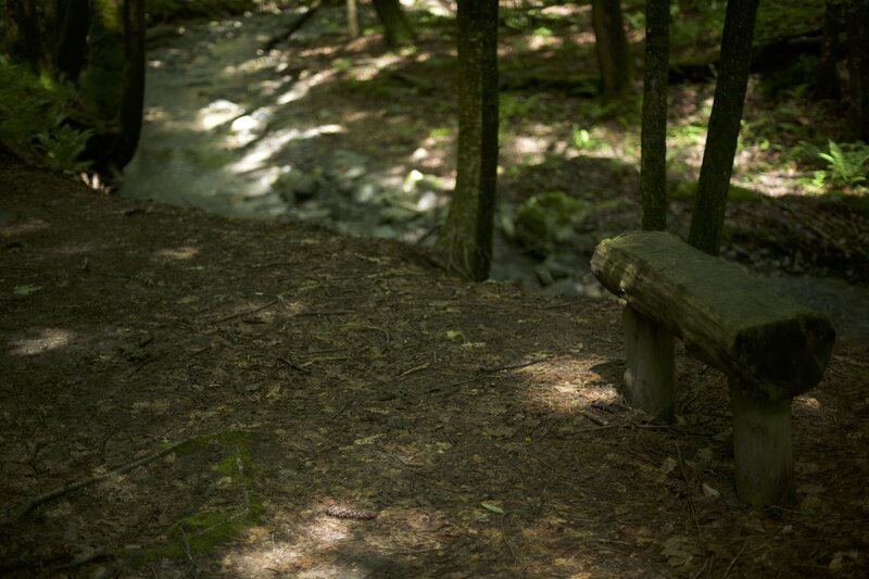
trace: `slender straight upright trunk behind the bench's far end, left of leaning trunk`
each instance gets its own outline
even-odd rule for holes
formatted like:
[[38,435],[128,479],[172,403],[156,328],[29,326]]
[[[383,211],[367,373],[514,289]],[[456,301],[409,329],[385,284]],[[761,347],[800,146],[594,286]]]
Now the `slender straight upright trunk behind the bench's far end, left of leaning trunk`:
[[640,191],[643,229],[667,228],[667,71],[670,0],[645,4]]

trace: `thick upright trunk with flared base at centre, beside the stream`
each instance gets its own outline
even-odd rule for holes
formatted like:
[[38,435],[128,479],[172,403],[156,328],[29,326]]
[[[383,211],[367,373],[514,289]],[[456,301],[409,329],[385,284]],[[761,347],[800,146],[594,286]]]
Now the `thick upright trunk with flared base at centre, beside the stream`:
[[498,0],[459,0],[458,158],[437,251],[446,268],[483,280],[492,262],[498,169]]

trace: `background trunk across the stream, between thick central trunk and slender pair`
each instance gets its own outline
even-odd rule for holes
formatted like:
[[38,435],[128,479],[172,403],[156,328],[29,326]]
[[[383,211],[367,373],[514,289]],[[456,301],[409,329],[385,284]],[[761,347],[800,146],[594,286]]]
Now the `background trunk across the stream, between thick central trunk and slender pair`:
[[621,3],[619,0],[592,0],[591,9],[603,96],[606,100],[617,99],[630,91],[633,77]]

